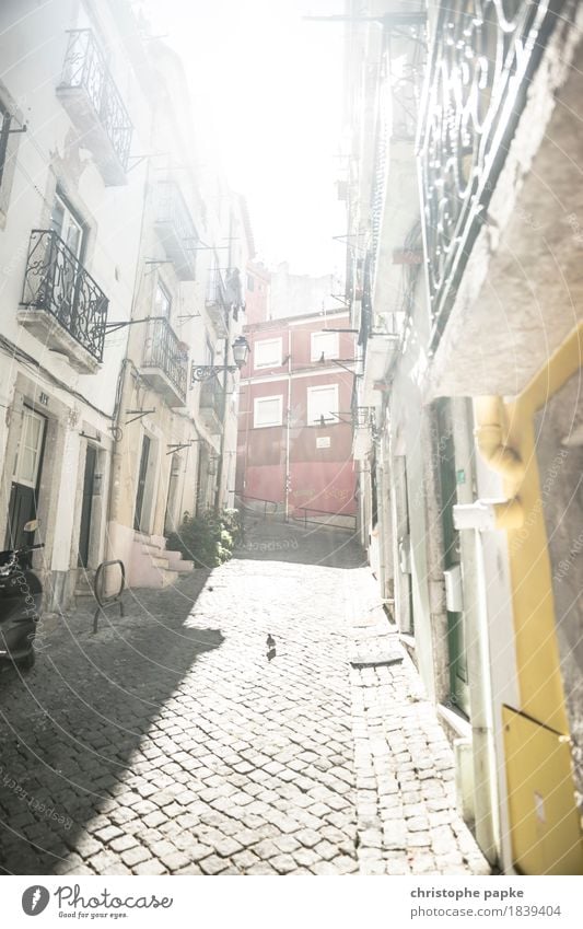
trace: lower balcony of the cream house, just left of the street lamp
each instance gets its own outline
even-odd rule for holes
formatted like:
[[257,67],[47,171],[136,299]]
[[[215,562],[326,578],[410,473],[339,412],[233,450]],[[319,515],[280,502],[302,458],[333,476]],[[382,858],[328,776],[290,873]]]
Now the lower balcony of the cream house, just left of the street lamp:
[[142,373],[168,406],[185,405],[188,351],[167,320],[151,320],[148,323]]

